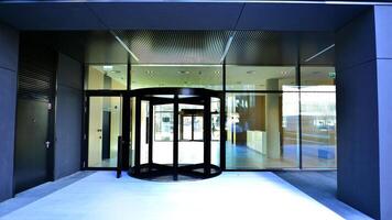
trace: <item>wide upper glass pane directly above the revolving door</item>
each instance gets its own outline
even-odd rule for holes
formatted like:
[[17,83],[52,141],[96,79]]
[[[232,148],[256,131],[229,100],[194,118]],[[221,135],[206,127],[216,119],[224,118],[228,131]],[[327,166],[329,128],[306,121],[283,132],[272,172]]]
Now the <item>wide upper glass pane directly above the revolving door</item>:
[[221,90],[221,65],[135,64],[131,70],[131,89],[187,87]]

